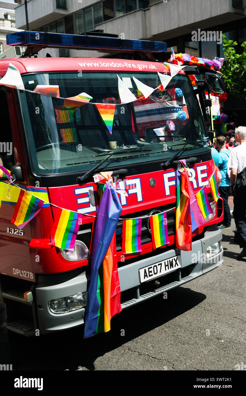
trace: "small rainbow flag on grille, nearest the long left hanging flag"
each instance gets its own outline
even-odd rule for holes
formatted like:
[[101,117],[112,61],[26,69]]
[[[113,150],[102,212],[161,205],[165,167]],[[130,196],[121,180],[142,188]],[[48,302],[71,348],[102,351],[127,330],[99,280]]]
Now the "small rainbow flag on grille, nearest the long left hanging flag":
[[122,253],[137,253],[141,249],[142,219],[123,220]]

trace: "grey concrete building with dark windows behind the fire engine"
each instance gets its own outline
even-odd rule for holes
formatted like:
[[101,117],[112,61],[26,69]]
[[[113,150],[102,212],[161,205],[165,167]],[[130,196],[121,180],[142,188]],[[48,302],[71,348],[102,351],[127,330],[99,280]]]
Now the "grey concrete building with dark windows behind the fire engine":
[[[17,27],[26,29],[24,0],[15,2],[19,3],[15,9]],[[79,34],[103,29],[121,38],[165,41],[168,50],[158,54],[158,61],[170,57],[171,47],[175,53],[223,57],[222,34],[237,41],[238,53],[242,53],[240,44],[246,41],[246,0],[27,0],[27,9],[29,30]],[[194,32],[200,33],[199,38]],[[52,56],[127,57],[122,53],[73,49],[48,52]],[[46,53],[43,49],[40,55]],[[240,119],[244,120],[246,103],[228,99],[227,107],[232,115],[241,109]]]

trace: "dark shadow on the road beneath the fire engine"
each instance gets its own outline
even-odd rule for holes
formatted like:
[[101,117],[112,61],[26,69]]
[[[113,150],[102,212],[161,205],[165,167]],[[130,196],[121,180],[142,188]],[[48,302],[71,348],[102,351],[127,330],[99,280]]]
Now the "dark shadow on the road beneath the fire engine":
[[9,333],[11,364],[15,370],[76,370],[79,366],[94,370],[98,357],[177,318],[205,299],[203,293],[177,287],[167,292],[167,299],[160,295],[116,314],[111,331],[88,339],[83,339],[82,326],[29,338]]

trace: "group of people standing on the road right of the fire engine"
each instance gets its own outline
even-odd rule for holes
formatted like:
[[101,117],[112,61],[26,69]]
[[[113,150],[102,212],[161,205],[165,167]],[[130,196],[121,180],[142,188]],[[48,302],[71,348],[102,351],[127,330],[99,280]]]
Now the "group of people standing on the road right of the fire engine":
[[246,194],[243,183],[237,192],[232,187],[237,177],[243,178],[246,171],[246,127],[239,126],[235,133],[216,138],[216,150],[219,152],[218,169],[220,171],[217,183],[219,193],[224,204],[224,218],[221,229],[231,228],[231,212],[228,204],[229,194],[233,196],[233,217],[236,224],[234,242],[239,244],[242,251],[237,258],[246,257]]

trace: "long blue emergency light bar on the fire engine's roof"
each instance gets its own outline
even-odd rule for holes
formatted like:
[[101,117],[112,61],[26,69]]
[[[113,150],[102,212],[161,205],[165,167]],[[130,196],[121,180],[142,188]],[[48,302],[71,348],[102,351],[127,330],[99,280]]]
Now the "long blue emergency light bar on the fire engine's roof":
[[147,40],[121,40],[114,37],[84,36],[44,32],[15,32],[6,34],[9,46],[38,46],[38,48],[108,49],[109,51],[164,52],[167,43]]

